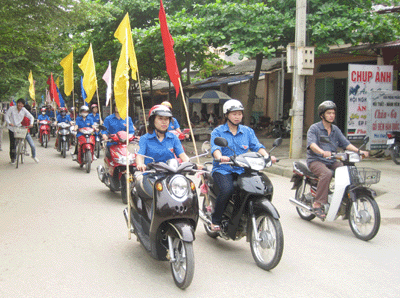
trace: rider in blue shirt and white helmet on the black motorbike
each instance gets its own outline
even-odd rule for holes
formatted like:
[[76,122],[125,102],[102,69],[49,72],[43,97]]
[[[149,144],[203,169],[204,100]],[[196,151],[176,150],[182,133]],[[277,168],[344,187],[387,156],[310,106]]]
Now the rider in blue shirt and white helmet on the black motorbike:
[[[231,197],[234,187],[233,182],[237,176],[244,172],[243,168],[231,167],[230,165],[220,164],[220,162],[229,162],[234,153],[237,155],[246,153],[249,150],[262,154],[266,159],[269,158],[265,147],[258,141],[254,130],[250,127],[241,125],[243,119],[243,105],[237,99],[231,99],[225,102],[223,113],[225,124],[216,127],[211,133],[211,154],[214,157],[212,176],[214,185],[218,188],[215,211],[212,215],[211,230],[219,231],[222,213]],[[216,137],[223,137],[228,141],[228,146],[235,150],[233,152],[228,147],[220,147],[214,143]],[[272,162],[276,162],[274,156],[270,157]],[[220,160],[217,162],[215,160]]]

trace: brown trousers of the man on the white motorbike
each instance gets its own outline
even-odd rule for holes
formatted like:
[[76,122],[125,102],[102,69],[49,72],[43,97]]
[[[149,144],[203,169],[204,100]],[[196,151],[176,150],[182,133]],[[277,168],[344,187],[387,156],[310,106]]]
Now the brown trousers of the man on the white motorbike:
[[331,183],[335,169],[342,165],[340,161],[336,161],[332,165],[326,165],[320,161],[313,161],[308,165],[311,172],[317,175],[319,179],[314,203],[324,205],[328,202],[329,183]]

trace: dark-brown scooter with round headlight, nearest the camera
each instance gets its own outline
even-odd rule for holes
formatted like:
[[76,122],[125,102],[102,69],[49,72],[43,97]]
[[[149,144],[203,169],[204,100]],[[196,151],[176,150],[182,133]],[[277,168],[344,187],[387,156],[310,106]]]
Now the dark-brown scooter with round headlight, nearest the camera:
[[128,228],[153,258],[170,262],[174,282],[181,289],[190,285],[194,275],[199,206],[196,186],[186,174],[195,172],[194,163],[179,164],[177,159],[147,164],[145,172],[135,172],[132,207],[130,212],[124,210]]

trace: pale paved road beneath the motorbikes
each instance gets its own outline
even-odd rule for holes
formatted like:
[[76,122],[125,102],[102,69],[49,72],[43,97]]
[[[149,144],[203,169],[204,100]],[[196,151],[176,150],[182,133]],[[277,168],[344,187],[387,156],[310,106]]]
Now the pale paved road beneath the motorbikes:
[[0,297],[399,295],[399,225],[384,222],[363,242],[347,221],[305,222],[288,202],[289,179],[274,174],[285,235],[280,264],[259,269],[244,239],[211,239],[199,223],[193,282],[179,290],[168,263],[127,239],[119,193],[52,147],[38,147],[38,157],[15,169],[8,150],[0,152]]

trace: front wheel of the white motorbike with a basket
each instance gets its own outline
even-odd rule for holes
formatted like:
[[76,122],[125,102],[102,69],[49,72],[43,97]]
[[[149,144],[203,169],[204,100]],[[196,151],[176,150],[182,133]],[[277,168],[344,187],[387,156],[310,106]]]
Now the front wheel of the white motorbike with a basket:
[[356,216],[354,204],[350,208],[349,224],[354,235],[368,241],[376,236],[381,224],[381,213],[378,204],[370,195],[361,195],[356,201],[359,217]]

